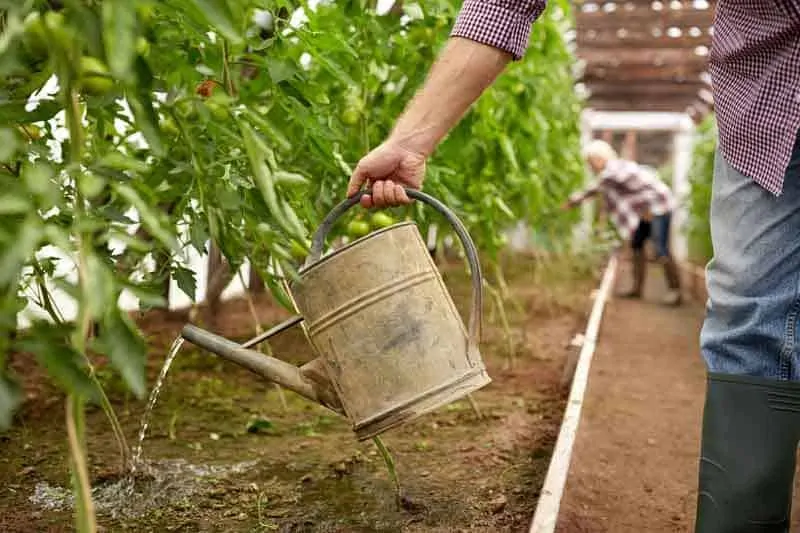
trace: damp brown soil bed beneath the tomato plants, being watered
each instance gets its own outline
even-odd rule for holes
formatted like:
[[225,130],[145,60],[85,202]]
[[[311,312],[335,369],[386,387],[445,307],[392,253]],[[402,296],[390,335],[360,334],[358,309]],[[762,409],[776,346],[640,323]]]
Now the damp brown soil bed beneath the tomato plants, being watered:
[[[162,484],[149,506],[133,499],[116,509],[101,505],[102,530],[527,531],[564,407],[560,381],[568,344],[584,328],[601,266],[545,269],[522,258],[509,263],[508,292],[520,306],[506,306],[505,330],[487,294],[482,353],[493,382],[474,395],[484,418],[459,401],[383,435],[403,486],[402,506],[376,447],[358,443],[347,421],[290,392],[284,410],[271,384],[185,346],[144,443],[156,471],[181,474]],[[450,266],[445,274],[465,310],[469,285],[463,269]],[[285,316],[266,296],[255,306],[264,327]],[[137,320],[150,346],[152,386],[188,315],[159,311]],[[196,321],[240,341],[255,334],[244,300],[224,303],[213,316],[205,311]],[[301,347],[289,334],[271,344],[276,355],[294,362],[307,360]],[[71,510],[48,508],[41,494],[42,487],[69,488],[63,395],[30,354],[16,354],[12,367],[26,401],[14,428],[0,435],[0,531],[71,531]],[[107,368],[99,374],[134,446],[146,399],[124,392]],[[93,483],[108,487],[120,476],[119,454],[97,407],[88,409],[86,427]],[[146,491],[147,481],[141,483],[137,490]],[[34,503],[37,485],[40,498]]]

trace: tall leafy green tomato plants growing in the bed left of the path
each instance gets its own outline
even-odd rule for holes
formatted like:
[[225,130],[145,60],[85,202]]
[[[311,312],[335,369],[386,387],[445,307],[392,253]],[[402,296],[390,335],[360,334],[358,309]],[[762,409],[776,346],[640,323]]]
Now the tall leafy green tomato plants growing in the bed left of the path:
[[[88,356],[103,354],[141,397],[145,345],[118,309],[121,292],[163,305],[172,277],[194,298],[182,257],[211,240],[285,301],[276,276],[292,273],[343,199],[349,167],[421,85],[460,2],[405,4],[400,17],[347,0],[306,8],[300,27],[288,24],[297,5],[286,0],[64,5],[0,2],[0,342],[35,350],[65,390],[89,398]],[[551,3],[524,60],[430,165],[426,190],[490,258],[518,219],[563,233],[577,216],[545,219],[583,179],[581,103],[562,39],[570,16],[566,0]],[[57,90],[41,92],[53,76]],[[411,215],[423,231],[436,216],[419,205]],[[53,248],[68,259],[49,259]],[[75,324],[63,324],[53,287],[75,299]],[[51,320],[23,337],[47,342],[12,346],[20,296],[34,293]],[[99,333],[87,339],[92,324]],[[11,384],[0,380],[0,423],[15,404]]]

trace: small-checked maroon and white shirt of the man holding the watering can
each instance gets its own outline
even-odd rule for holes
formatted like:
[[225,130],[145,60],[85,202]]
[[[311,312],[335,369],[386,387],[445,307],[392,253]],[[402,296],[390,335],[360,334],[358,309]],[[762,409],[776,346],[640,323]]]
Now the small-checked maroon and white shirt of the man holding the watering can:
[[[452,35],[520,59],[546,3],[466,0]],[[800,0],[716,6],[709,71],[720,150],[735,169],[779,195],[800,130]]]

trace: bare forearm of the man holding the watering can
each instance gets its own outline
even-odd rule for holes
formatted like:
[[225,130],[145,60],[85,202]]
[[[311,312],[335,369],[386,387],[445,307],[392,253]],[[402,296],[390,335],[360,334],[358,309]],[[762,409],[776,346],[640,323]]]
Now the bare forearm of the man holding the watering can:
[[452,37],[422,89],[398,119],[390,139],[430,155],[511,59],[511,54],[498,48]]

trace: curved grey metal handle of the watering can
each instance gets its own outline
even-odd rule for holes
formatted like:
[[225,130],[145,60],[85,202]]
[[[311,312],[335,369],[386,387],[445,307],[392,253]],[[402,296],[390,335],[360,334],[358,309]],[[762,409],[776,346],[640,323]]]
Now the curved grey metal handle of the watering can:
[[[469,236],[469,233],[467,232],[467,228],[464,226],[464,223],[461,222],[461,220],[455,215],[455,213],[453,213],[450,210],[450,208],[448,208],[442,202],[416,189],[409,189],[406,187],[405,191],[409,198],[420,200],[421,202],[428,204],[430,207],[432,207],[433,209],[438,211],[442,216],[444,216],[447,219],[447,221],[453,226],[453,229],[455,229],[456,234],[458,235],[458,238],[461,241],[461,245],[464,247],[464,252],[467,254],[470,274],[472,277],[472,307],[470,308],[470,315],[469,315],[468,349],[470,350],[470,352],[472,350],[477,350],[478,342],[480,341],[481,337],[481,309],[483,309],[483,292],[482,292],[483,277],[481,275],[481,264],[480,261],[478,260],[478,251],[475,248],[475,243],[472,242],[472,238]],[[320,257],[322,256],[322,249],[325,246],[325,238],[328,236],[328,233],[330,232],[333,225],[336,223],[337,219],[340,216],[342,216],[348,209],[358,204],[362,196],[369,193],[370,191],[368,189],[364,189],[357,192],[355,195],[339,203],[339,205],[334,207],[325,216],[325,218],[322,220],[322,223],[317,228],[317,231],[314,232],[314,236],[311,239],[311,251],[308,254],[308,258],[306,259],[304,265],[305,267],[308,267],[311,264],[319,261]]]

